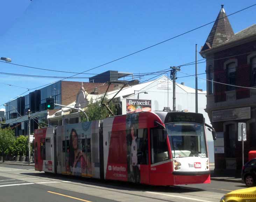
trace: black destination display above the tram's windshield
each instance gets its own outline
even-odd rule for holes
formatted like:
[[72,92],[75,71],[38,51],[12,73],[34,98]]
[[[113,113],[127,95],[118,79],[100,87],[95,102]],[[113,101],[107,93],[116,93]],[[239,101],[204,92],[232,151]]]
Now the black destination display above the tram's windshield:
[[189,112],[170,112],[165,117],[165,123],[171,122],[192,122],[192,123],[204,123],[204,116],[202,114],[189,113]]

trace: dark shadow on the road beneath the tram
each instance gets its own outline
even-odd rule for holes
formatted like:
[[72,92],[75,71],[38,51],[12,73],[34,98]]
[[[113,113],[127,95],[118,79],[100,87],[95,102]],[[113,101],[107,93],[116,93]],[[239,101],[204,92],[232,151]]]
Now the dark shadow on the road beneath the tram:
[[119,190],[128,190],[128,191],[138,191],[138,192],[170,192],[170,193],[186,193],[186,192],[200,192],[205,191],[204,189],[199,188],[187,188],[182,186],[151,186],[136,184],[132,182],[123,182],[123,181],[113,181],[113,180],[100,180],[94,178],[85,178],[79,176],[70,176],[70,175],[60,175],[52,173],[20,173],[24,175],[36,176],[39,178],[49,178],[55,180],[69,181],[66,183],[82,183],[84,186],[98,186],[98,189],[119,189]]

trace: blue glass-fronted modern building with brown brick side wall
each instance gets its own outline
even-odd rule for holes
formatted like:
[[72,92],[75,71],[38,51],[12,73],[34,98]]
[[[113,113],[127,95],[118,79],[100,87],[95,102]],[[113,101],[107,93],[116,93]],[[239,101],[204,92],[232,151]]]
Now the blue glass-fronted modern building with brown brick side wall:
[[[103,93],[107,85],[103,83],[84,82],[84,88],[90,94]],[[31,132],[38,128],[38,124],[47,126],[48,111],[45,110],[46,98],[54,98],[56,104],[67,105],[76,100],[77,92],[81,88],[81,82],[58,81],[42,89],[21,96],[6,103],[6,125],[16,129],[15,135],[28,134],[28,109],[31,111]],[[111,85],[111,90],[114,86]],[[61,107],[56,106],[54,110],[49,110],[49,115],[54,114]]]

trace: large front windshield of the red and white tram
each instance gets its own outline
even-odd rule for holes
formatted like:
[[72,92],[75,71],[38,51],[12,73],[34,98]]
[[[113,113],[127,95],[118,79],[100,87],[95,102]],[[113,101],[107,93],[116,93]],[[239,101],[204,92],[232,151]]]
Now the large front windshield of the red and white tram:
[[173,158],[207,158],[204,125],[175,122],[165,124]]

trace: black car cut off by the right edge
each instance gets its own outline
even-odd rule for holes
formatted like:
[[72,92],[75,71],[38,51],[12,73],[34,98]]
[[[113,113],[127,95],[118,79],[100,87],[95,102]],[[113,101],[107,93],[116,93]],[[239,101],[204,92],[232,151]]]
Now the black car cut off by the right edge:
[[241,178],[247,187],[256,185],[256,158],[251,159],[243,166]]

